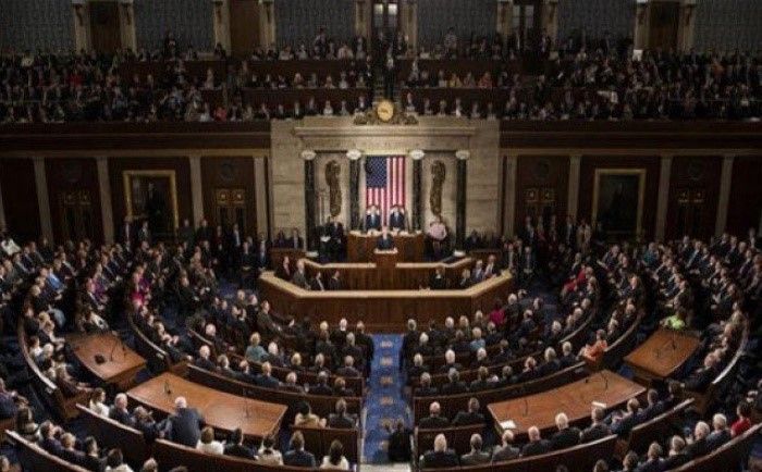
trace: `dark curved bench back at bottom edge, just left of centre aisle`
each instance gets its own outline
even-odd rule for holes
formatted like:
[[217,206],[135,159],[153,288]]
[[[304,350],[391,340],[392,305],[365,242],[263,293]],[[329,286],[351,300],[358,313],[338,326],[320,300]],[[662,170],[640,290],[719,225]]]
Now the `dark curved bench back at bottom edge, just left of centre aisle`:
[[[233,456],[219,456],[201,452],[192,447],[157,439],[153,445],[153,459],[161,464],[161,470],[170,470],[185,465],[190,472],[305,472],[318,469],[296,468],[288,465],[265,465],[249,459]],[[315,458],[318,464],[322,458]]]

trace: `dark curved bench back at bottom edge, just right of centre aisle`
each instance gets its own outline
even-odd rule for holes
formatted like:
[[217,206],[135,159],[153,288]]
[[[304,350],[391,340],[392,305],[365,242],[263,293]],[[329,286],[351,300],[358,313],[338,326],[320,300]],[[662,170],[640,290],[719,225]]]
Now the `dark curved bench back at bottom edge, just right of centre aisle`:
[[566,465],[570,472],[590,472],[599,459],[606,459],[613,456],[615,446],[616,435],[611,435],[592,443],[585,443],[540,456],[524,457],[483,465],[437,470],[439,472],[551,472],[558,465]]

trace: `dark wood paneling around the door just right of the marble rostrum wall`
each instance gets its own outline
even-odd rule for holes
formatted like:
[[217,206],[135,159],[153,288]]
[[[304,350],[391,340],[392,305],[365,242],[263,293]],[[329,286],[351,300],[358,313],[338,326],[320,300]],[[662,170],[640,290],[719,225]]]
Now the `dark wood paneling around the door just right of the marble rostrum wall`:
[[[569,158],[567,156],[519,156],[516,171],[516,228],[524,227],[527,216],[526,190],[552,188],[555,191],[555,214],[558,223],[566,216],[569,185]],[[548,224],[549,222],[545,222]]]

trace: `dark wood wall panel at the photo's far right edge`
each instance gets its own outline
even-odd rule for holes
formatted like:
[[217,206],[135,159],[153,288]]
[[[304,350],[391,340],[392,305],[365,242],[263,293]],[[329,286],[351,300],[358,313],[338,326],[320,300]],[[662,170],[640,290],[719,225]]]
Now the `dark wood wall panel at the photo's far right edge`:
[[736,235],[746,235],[749,227],[759,227],[761,212],[762,156],[738,156],[733,161],[727,231]]

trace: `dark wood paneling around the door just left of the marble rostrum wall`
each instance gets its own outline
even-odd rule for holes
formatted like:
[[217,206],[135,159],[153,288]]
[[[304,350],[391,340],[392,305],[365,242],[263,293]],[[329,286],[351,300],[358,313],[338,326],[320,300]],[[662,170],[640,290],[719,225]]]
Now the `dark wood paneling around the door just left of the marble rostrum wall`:
[[201,159],[204,182],[204,213],[210,223],[219,224],[214,212],[214,195],[218,188],[243,188],[246,191],[247,235],[257,234],[257,200],[251,158],[206,158]]

